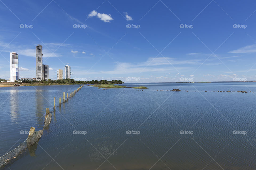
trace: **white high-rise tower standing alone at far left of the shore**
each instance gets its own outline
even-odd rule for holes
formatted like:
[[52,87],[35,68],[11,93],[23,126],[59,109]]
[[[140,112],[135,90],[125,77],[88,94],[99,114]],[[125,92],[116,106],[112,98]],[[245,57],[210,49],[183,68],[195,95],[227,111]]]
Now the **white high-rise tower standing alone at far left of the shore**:
[[19,54],[16,52],[10,52],[10,68],[11,68],[11,78],[10,82],[19,80]]

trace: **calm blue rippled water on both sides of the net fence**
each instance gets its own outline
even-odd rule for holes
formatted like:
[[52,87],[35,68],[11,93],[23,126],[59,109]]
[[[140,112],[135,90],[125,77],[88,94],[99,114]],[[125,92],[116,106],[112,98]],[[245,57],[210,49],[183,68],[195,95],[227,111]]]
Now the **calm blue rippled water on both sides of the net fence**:
[[[82,87],[56,107],[38,144],[7,166],[11,170],[255,169],[256,83],[126,85],[148,89]],[[42,129],[46,108],[53,111],[53,97],[58,101],[63,92],[78,87],[0,88],[0,155],[26,140],[21,130]],[[181,91],[170,91],[173,88]],[[73,134],[75,130],[86,134]],[[128,130],[139,134],[127,134]],[[233,134],[234,130],[243,134]]]

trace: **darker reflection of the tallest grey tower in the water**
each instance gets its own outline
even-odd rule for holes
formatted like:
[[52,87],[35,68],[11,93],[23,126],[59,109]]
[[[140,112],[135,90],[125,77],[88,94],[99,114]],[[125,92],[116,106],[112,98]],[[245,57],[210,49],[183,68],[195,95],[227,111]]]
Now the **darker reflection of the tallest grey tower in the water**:
[[43,96],[42,96],[42,91],[40,89],[37,89],[35,91],[35,104],[36,104],[36,117],[37,121],[40,126],[43,126],[43,116],[45,115],[44,108],[43,108]]

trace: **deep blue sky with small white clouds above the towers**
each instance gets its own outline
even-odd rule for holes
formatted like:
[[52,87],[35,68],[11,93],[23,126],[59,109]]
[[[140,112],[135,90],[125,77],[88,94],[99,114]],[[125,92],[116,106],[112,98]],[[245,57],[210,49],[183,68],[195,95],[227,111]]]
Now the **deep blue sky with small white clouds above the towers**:
[[12,51],[20,78],[35,77],[41,44],[50,79],[69,64],[81,80],[256,80],[255,10],[256,1],[1,0],[0,78],[10,78]]

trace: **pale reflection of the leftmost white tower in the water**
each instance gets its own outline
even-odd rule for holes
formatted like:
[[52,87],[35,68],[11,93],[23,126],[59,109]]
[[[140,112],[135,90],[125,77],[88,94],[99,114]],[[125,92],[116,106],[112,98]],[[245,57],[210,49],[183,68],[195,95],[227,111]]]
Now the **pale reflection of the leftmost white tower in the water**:
[[18,111],[18,105],[19,105],[19,98],[18,98],[19,90],[17,89],[11,89],[10,90],[10,116],[13,120],[17,120],[19,118],[19,111]]

